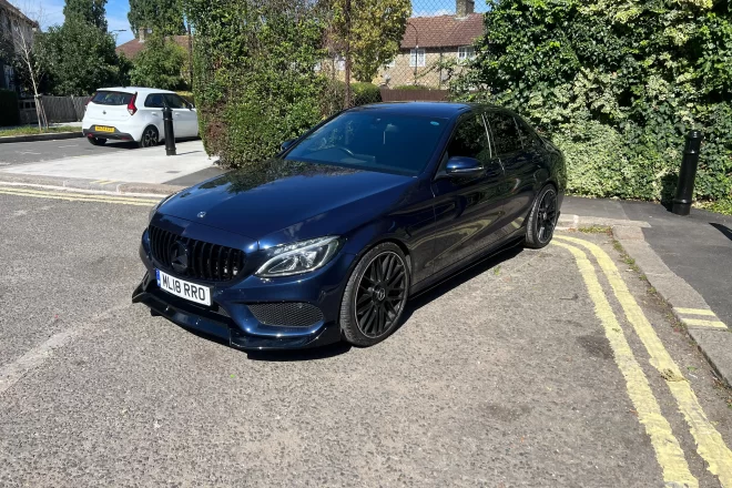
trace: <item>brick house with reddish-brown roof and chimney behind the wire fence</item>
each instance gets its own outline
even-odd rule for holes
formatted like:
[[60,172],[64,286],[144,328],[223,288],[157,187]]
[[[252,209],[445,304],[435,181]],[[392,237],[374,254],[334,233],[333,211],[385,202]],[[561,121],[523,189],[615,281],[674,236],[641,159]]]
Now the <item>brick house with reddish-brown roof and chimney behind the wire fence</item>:
[[472,43],[482,35],[484,16],[474,9],[474,0],[456,0],[453,16],[408,19],[399,54],[379,70],[374,82],[390,88],[420,84],[445,89],[447,72],[440,63],[459,64],[472,58]]

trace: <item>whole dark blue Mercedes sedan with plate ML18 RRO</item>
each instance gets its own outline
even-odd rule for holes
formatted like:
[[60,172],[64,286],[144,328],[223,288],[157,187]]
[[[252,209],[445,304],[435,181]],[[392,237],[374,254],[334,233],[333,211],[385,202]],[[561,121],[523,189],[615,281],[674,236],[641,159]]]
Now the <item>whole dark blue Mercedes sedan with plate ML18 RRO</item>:
[[370,346],[410,295],[547,245],[565,184],[561,153],[508,110],[359,106],[163,200],[132,301],[245,349]]

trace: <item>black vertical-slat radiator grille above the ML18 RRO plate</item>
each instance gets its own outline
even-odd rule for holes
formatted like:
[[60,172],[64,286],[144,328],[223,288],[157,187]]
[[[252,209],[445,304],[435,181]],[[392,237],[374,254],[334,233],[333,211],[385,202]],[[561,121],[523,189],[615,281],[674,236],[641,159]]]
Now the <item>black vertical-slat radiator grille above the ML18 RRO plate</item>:
[[[245,256],[241,250],[181,237],[179,234],[151,225],[150,250],[161,267],[176,275],[211,282],[234,279],[244,267]],[[181,242],[189,250],[187,268],[185,272],[175,270],[171,263],[173,245]]]

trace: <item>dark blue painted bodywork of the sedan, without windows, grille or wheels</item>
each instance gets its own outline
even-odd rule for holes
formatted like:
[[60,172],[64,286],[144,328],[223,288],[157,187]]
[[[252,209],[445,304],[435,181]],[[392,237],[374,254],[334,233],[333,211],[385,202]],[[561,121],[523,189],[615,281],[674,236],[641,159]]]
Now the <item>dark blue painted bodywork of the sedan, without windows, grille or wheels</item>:
[[[440,116],[450,125],[418,175],[288,161],[285,151],[260,165],[184,190],[164,202],[150,224],[183,238],[242,250],[245,268],[225,283],[181,277],[211,287],[211,307],[175,297],[155,283],[155,268],[164,268],[164,263],[151,253],[145,231],[140,255],[148,274],[133,302],[144,303],[154,315],[247,349],[336,342],[345,285],[359,257],[374,245],[392,241],[403,247],[411,294],[418,293],[521,238],[533,197],[546,184],[557,186],[559,195],[563,192],[563,159],[538,136],[541,144],[511,155],[510,171],[496,157],[478,177],[460,180],[438,173],[455,124],[465,114],[491,108],[393,103],[352,110]],[[266,258],[266,248],[327,235],[340,236],[343,245],[325,266],[287,277],[254,274]],[[247,306],[270,303],[309,304],[319,308],[322,319],[307,326],[267,325]]]

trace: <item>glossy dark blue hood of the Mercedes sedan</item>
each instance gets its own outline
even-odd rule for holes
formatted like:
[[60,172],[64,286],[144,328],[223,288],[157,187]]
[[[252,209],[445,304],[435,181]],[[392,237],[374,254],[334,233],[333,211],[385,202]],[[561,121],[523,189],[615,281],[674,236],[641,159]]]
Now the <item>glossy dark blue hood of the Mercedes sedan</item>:
[[414,176],[274,159],[176,194],[164,215],[261,240],[343,234],[398,202]]

